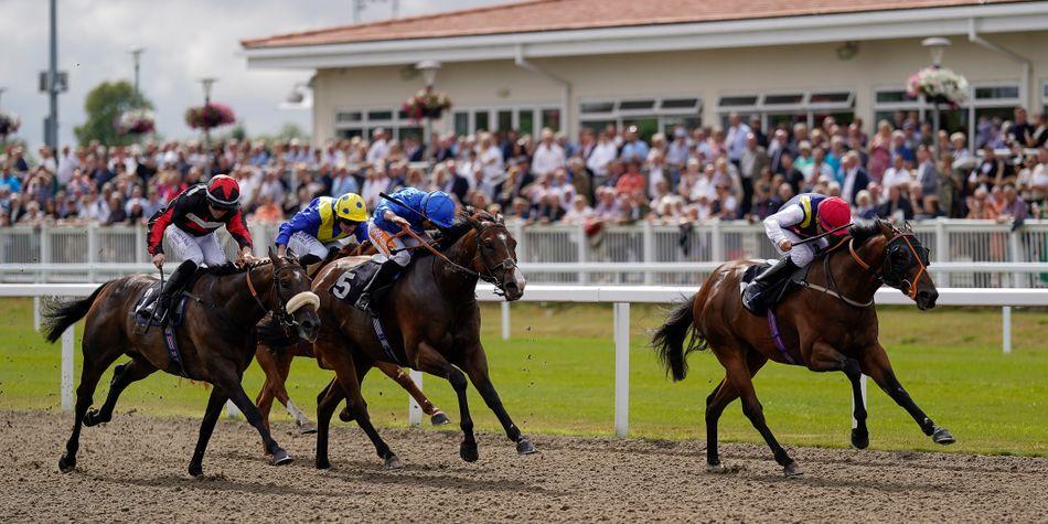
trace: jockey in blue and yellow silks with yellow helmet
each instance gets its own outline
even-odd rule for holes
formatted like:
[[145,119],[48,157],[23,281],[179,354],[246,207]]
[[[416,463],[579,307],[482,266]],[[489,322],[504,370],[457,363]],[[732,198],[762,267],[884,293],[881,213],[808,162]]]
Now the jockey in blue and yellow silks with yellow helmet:
[[286,257],[290,248],[302,267],[323,261],[331,249],[341,248],[350,235],[363,244],[367,239],[366,222],[367,207],[357,194],[346,193],[338,200],[313,199],[304,210],[280,224],[277,255]]

